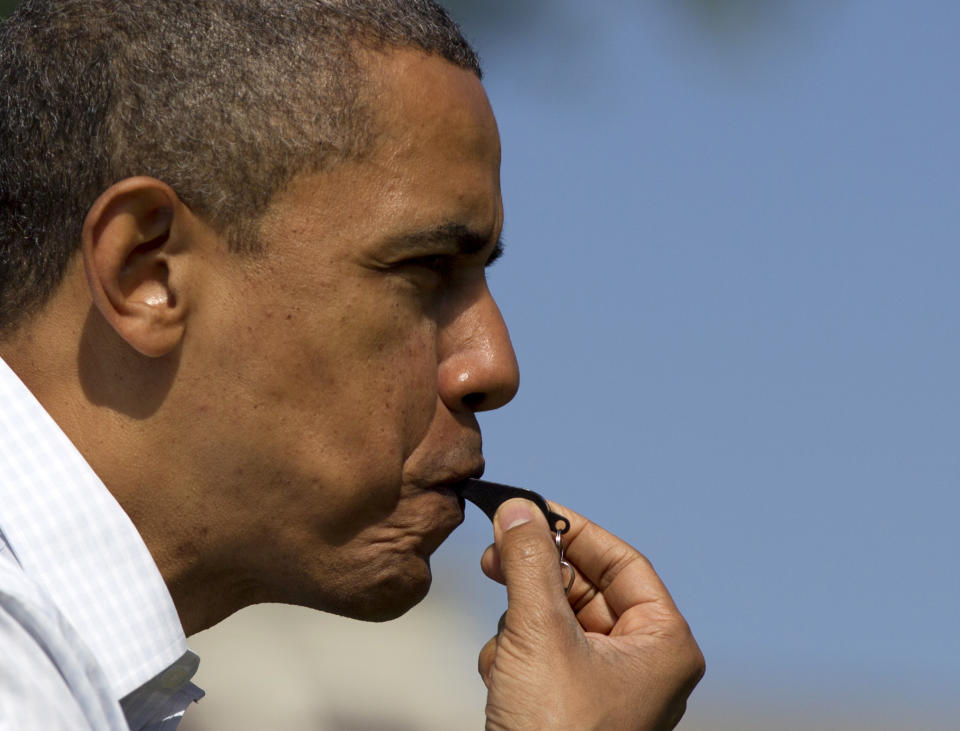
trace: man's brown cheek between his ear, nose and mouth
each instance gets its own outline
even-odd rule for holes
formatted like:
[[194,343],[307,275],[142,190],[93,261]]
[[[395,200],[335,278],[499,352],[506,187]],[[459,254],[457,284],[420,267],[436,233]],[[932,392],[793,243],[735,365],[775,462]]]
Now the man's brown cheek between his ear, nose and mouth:
[[437,410],[435,324],[374,294],[248,310],[239,337],[207,353],[229,373],[204,402],[229,425],[231,479],[291,529],[337,541],[394,510]]

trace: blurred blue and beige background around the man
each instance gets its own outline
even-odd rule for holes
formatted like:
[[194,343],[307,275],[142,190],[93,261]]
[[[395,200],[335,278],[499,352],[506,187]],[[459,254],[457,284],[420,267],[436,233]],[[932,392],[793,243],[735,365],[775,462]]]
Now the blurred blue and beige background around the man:
[[[707,658],[680,728],[960,728],[960,4],[447,6],[504,149],[487,476],[653,560]],[[481,728],[489,541],[393,623],[194,637],[183,728]]]

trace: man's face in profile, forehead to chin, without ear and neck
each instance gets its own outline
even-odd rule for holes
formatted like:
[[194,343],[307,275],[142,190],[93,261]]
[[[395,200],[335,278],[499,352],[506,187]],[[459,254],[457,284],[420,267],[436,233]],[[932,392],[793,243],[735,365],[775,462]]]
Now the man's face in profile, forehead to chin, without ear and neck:
[[426,593],[463,517],[443,485],[482,469],[474,412],[518,372],[485,280],[503,208],[480,82],[419,52],[368,58],[372,152],[295,180],[262,221],[266,255],[218,263],[227,304],[190,333],[218,433],[186,448],[222,455],[209,509],[239,580],[386,619]]

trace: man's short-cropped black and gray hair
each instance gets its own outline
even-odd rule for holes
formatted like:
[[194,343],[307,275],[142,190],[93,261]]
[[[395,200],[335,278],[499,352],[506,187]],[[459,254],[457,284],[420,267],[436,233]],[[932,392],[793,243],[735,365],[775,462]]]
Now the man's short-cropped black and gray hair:
[[256,250],[295,175],[362,154],[357,50],[402,47],[481,76],[432,0],[25,0],[0,24],[0,334],[56,290],[126,177]]

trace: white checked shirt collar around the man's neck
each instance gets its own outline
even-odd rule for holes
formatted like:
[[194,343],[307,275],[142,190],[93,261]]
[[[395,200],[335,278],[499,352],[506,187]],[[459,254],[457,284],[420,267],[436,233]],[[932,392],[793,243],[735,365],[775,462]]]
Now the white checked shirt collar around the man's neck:
[[2,359],[0,404],[0,535],[119,700],[184,658],[173,600],[133,522]]

